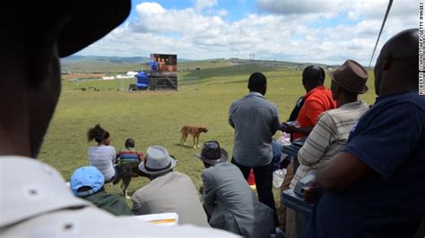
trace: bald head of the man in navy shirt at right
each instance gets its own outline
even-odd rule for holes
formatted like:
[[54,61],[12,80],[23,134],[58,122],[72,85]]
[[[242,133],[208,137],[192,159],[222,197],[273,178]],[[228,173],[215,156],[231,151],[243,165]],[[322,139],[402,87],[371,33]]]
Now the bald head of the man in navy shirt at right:
[[375,65],[377,95],[418,90],[418,40],[418,29],[409,29],[386,41]]

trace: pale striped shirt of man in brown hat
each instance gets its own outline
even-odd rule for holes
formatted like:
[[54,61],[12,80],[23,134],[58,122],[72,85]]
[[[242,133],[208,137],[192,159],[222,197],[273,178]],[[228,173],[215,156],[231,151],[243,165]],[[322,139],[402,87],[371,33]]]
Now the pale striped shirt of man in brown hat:
[[320,115],[306,143],[299,149],[299,167],[290,188],[294,188],[299,179],[321,168],[342,151],[352,126],[368,110],[366,102],[357,101],[325,111]]

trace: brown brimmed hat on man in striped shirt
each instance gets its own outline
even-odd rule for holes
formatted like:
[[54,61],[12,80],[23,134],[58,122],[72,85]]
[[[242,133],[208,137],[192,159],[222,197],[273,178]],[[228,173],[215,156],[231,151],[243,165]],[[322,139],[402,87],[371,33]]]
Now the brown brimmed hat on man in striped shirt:
[[328,72],[331,80],[351,92],[363,94],[367,92],[368,72],[359,63],[347,60],[334,71]]

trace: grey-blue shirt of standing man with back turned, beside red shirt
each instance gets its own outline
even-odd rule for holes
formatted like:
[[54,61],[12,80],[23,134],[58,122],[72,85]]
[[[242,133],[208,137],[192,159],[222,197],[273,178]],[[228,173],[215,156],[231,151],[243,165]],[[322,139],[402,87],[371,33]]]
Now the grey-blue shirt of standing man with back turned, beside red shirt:
[[272,137],[279,130],[279,110],[258,92],[250,92],[230,105],[229,123],[235,128],[233,157],[242,166],[272,162]]

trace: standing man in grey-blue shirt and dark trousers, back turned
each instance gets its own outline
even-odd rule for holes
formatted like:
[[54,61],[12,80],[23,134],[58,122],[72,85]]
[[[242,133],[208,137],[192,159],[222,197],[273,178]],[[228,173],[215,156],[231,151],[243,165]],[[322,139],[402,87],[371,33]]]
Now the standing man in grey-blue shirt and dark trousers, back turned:
[[278,226],[272,192],[272,137],[280,129],[279,110],[265,100],[267,80],[263,73],[251,74],[247,88],[247,96],[230,105],[229,123],[235,129],[231,163],[245,179],[251,168],[254,170],[258,199],[273,209],[274,225]]

